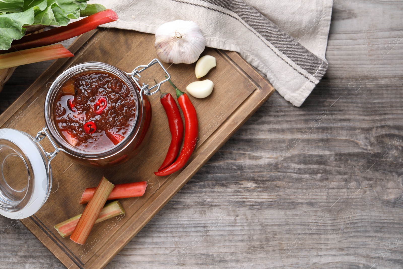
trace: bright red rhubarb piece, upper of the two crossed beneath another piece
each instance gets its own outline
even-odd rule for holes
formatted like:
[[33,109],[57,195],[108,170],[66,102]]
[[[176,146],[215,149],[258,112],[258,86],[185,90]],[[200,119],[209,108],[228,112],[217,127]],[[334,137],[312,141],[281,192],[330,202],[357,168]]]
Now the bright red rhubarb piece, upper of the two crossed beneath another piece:
[[[147,188],[146,181],[116,184],[110,193],[108,200],[131,198],[143,196],[145,189]],[[80,199],[80,204],[85,204],[91,200],[96,188],[86,188]]]

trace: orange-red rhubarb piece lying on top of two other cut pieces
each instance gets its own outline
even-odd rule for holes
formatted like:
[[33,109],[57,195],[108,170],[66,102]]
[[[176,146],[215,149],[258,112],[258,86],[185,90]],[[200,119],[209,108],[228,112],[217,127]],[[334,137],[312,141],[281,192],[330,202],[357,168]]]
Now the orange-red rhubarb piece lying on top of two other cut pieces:
[[113,190],[114,185],[105,177],[102,177],[98,187],[96,188],[91,200],[85,206],[77,226],[74,228],[70,239],[77,244],[83,245],[87,240],[95,221],[98,219],[102,207]]

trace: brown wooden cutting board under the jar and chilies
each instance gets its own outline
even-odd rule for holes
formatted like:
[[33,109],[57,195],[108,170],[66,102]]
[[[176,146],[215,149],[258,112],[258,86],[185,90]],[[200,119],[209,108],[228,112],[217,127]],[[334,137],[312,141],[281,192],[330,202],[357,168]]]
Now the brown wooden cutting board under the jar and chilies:
[[[2,115],[0,125],[25,131],[33,136],[45,126],[44,100],[50,84],[68,67],[87,61],[114,65],[132,71],[156,58],[154,35],[118,29],[97,29],[81,35],[69,50],[74,58],[58,59]],[[213,93],[204,99],[189,96],[199,119],[199,143],[184,169],[166,177],[154,171],[164,160],[170,133],[160,95],[150,96],[152,133],[143,150],[118,167],[100,169],[74,163],[64,153],[52,161],[53,186],[47,202],[33,216],[21,222],[67,268],[103,268],[141,230],[144,225],[176,194],[208,161],[232,134],[274,92],[273,87],[236,52],[206,48],[202,55],[216,57],[217,67],[202,79],[214,82]],[[197,80],[195,64],[164,64],[172,81],[181,90]],[[153,69],[154,70],[154,69]],[[162,72],[144,71],[145,83],[162,79]],[[159,72],[157,72],[159,71]],[[163,92],[174,96],[174,89],[165,83]],[[52,149],[46,139],[41,142]],[[126,214],[94,226],[86,244],[62,238],[54,225],[83,212],[79,204],[83,190],[97,186],[102,175],[112,183],[147,181],[147,191],[139,198],[121,199]]]

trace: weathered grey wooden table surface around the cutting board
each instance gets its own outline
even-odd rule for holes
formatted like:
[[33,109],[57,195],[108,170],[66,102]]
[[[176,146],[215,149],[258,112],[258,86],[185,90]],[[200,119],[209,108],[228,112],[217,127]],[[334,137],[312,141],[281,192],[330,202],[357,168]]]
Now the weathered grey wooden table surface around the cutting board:
[[[401,269],[402,11],[334,1],[305,103],[275,92],[106,268]],[[0,110],[49,64],[18,67]],[[0,268],[64,266],[0,217]]]

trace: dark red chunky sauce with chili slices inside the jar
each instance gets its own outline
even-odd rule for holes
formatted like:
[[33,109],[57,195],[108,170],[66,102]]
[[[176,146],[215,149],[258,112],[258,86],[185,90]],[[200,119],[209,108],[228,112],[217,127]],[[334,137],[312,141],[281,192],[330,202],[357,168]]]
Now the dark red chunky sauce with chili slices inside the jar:
[[66,81],[55,107],[56,125],[72,146],[90,152],[112,148],[135,119],[135,97],[115,75],[86,71]]

